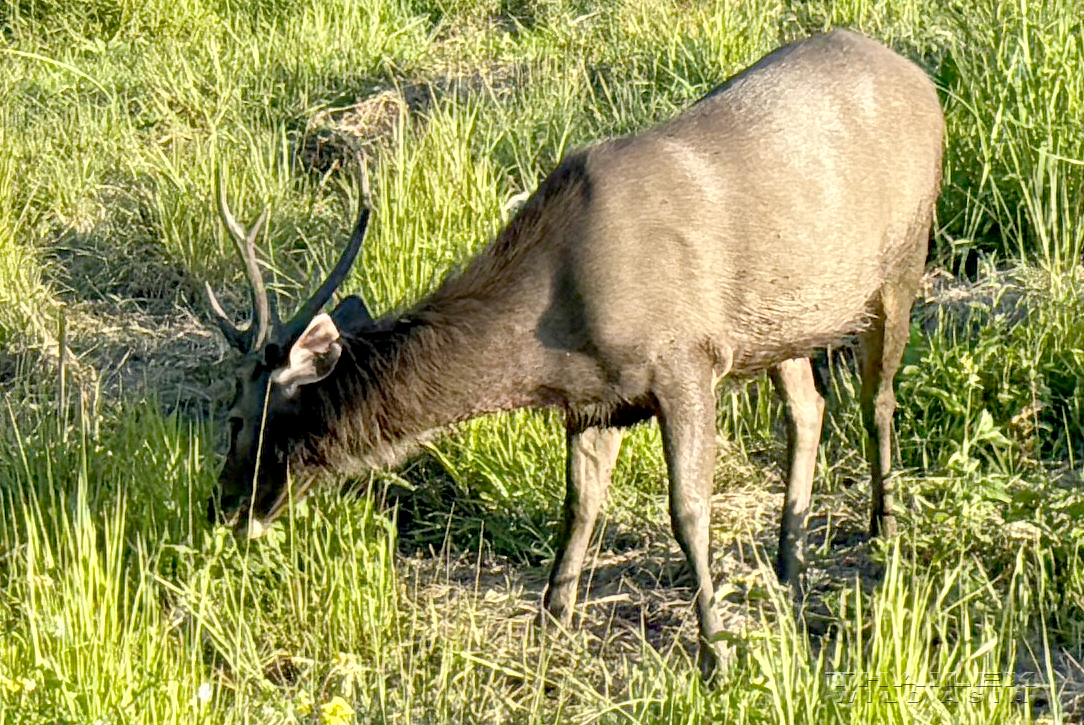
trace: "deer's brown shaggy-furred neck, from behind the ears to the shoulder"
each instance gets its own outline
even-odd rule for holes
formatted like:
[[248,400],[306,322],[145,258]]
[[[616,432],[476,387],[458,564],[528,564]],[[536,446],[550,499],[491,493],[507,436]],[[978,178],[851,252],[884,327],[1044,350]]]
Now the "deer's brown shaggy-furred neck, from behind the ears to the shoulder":
[[[402,315],[350,329],[325,380],[302,388],[291,458],[301,468],[393,465],[426,433],[482,413],[551,404],[537,326],[554,255],[590,194],[582,156],[566,159],[466,269]],[[553,209],[562,209],[554,215]],[[569,211],[571,209],[572,211]]]

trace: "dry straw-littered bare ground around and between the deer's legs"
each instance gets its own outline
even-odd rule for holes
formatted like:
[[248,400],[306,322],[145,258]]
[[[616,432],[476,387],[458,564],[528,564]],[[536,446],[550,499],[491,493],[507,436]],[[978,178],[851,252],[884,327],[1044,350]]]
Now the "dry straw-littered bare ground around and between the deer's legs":
[[[748,478],[738,481],[745,474]],[[741,640],[763,626],[764,614],[776,616],[780,592],[772,570],[782,483],[776,470],[765,474],[747,466],[724,463],[712,499],[712,572],[717,584],[718,611],[725,631]],[[821,599],[857,578],[876,585],[877,566],[869,557],[863,533],[849,521],[856,513],[838,515],[859,496],[834,494],[821,499],[816,509],[834,510],[811,522],[811,571],[813,594],[804,608],[812,630],[827,629],[827,610]],[[865,506],[864,497],[861,504]],[[555,502],[554,505],[558,505]],[[599,522],[589,549],[580,583],[573,627],[564,631],[547,623],[549,645],[539,637],[542,595],[549,561],[538,566],[516,565],[507,558],[481,552],[455,552],[447,546],[437,556],[413,554],[401,562],[411,606],[431,612],[433,621],[446,622],[449,632],[464,620],[485,631],[479,634],[486,651],[496,661],[516,659],[525,646],[551,647],[564,652],[568,662],[598,660],[589,679],[598,688],[616,688],[618,662],[638,663],[644,657],[676,655],[695,662],[697,647],[693,581],[684,555],[670,532],[666,504],[659,501],[657,516],[635,530],[629,522]],[[823,613],[818,613],[823,612]],[[556,637],[556,638],[555,638]],[[529,643],[525,644],[525,643]],[[648,645],[657,655],[644,649]],[[558,658],[560,660],[560,658]],[[603,666],[602,663],[606,663]],[[603,689],[599,689],[603,691]]]

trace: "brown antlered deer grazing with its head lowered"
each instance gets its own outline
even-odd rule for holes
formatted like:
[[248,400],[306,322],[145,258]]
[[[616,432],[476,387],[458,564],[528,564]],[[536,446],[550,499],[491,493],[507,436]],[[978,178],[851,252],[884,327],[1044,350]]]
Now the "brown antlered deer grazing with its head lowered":
[[[872,536],[896,530],[893,379],[941,185],[944,119],[925,72],[833,30],[784,46],[676,117],[569,153],[490,244],[420,301],[322,311],[370,218],[282,323],[251,231],[218,210],[253,289],[212,520],[258,535],[319,471],[393,466],[434,431],[515,409],[566,422],[567,492],[543,607],[570,624],[623,429],[660,426],[673,534],[695,580],[699,668],[723,658],[709,530],[715,389],[766,372],[786,418],[775,568],[805,566],[825,400],[811,355],[855,350]],[[294,478],[308,482],[293,484]],[[297,476],[295,476],[297,475]]]

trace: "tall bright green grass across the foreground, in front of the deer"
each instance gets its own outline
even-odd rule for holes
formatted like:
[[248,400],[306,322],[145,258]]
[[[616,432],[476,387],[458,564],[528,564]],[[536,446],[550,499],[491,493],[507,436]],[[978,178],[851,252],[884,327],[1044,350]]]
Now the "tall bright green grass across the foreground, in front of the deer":
[[[64,435],[55,420],[5,441],[3,722],[307,722],[308,703],[347,697],[367,716],[418,722],[1002,723],[1027,722],[1020,702],[1038,695],[1004,674],[1040,598],[1034,548],[998,583],[955,552],[918,561],[895,547],[874,592],[856,582],[828,597],[838,629],[826,638],[770,593],[726,679],[706,690],[684,655],[646,644],[569,661],[595,656],[522,618],[487,620],[485,592],[444,618],[420,607],[395,574],[395,528],[364,501],[320,496],[245,544],[156,518],[130,499],[126,471],[91,463],[94,450],[157,452],[141,472],[162,506],[202,497],[209,462],[195,430],[140,415],[139,431],[106,425],[98,440],[67,430],[70,455],[55,465],[33,451]],[[604,697],[597,677],[627,686]]]

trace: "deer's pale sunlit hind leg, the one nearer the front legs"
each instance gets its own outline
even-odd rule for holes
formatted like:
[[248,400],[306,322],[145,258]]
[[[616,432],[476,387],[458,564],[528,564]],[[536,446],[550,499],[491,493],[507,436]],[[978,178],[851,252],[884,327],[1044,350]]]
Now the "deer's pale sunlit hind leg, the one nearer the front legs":
[[808,358],[787,360],[771,372],[787,417],[787,494],[779,525],[775,571],[784,584],[799,584],[805,568],[805,523],[821,443],[824,398]]

